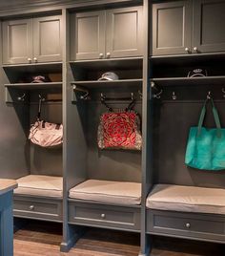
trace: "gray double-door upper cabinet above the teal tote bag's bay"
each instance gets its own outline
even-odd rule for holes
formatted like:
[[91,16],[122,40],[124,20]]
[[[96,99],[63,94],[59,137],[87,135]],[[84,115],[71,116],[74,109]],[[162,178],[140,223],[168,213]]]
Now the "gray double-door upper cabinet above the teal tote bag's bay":
[[225,2],[153,4],[153,55],[225,51]]

